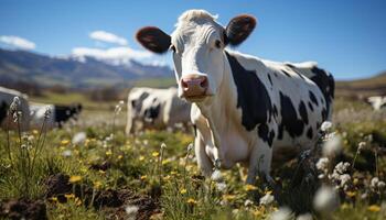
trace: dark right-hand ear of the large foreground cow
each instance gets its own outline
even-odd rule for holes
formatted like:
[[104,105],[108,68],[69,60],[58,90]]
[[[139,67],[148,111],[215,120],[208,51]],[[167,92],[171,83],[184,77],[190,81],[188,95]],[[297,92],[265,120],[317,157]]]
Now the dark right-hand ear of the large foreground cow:
[[225,29],[225,43],[237,46],[243,43],[256,26],[256,19],[248,14],[233,18]]

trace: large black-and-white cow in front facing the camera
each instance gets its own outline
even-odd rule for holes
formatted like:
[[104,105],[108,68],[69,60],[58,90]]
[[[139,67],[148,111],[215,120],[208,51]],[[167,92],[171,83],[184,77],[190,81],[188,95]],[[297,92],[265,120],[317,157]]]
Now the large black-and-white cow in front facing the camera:
[[192,102],[195,155],[203,174],[248,165],[247,183],[269,176],[272,150],[314,145],[332,112],[334,79],[314,63],[264,61],[226,50],[244,42],[256,19],[226,28],[204,10],[184,12],[169,35],[154,26],[136,37],[154,53],[173,54],[179,97]]

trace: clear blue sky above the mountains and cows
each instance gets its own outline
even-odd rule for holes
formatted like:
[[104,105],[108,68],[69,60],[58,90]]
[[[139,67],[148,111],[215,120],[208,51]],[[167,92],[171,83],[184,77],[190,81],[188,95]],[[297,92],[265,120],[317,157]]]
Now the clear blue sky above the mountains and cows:
[[[170,64],[170,55],[144,54],[133,34],[143,25],[170,33],[187,9],[218,14],[223,25],[239,13],[257,16],[257,29],[237,48],[243,53],[272,61],[317,61],[339,79],[386,69],[385,0],[0,0],[0,37],[25,38],[34,43],[30,50],[50,55],[119,47]],[[127,44],[96,41],[89,36],[95,31],[112,33]],[[9,47],[4,41],[0,46]]]

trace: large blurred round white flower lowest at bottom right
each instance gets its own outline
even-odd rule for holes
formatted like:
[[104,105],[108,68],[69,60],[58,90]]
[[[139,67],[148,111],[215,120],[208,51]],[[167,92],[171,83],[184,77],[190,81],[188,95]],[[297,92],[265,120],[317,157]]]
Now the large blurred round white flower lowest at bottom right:
[[330,213],[339,207],[336,190],[330,186],[322,186],[313,198],[313,206],[318,211]]

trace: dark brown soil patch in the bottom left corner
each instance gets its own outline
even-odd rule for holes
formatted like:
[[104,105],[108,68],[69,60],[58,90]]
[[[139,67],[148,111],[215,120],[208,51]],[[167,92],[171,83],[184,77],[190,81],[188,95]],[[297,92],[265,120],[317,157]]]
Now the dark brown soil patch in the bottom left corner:
[[46,207],[42,200],[12,199],[0,204],[0,218],[45,220]]

